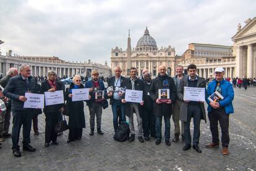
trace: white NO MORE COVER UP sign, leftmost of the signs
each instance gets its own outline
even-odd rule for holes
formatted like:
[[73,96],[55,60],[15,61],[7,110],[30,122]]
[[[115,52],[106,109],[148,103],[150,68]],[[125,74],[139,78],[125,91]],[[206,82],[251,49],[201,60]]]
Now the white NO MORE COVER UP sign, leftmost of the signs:
[[44,94],[25,93],[27,101],[24,102],[24,108],[43,108],[45,104]]

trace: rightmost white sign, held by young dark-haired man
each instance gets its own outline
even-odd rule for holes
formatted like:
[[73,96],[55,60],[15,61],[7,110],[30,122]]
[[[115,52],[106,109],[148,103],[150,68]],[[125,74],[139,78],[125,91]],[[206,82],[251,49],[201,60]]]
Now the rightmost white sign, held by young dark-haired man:
[[205,88],[184,86],[184,100],[205,101]]

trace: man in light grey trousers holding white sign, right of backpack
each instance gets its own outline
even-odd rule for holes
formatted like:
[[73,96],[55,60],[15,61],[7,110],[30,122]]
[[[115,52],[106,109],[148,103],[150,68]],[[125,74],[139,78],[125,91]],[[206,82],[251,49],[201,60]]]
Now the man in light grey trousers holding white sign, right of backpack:
[[[136,77],[137,69],[132,67],[130,69],[130,78],[127,78],[124,82],[126,90],[139,90],[143,91],[143,81]],[[122,96],[122,102],[126,103],[126,115],[129,117],[129,127],[130,127],[130,136],[128,141],[132,142],[135,139],[135,130],[134,130],[134,113],[137,117],[138,122],[138,135],[140,143],[144,143],[142,138],[142,106],[143,101],[140,103],[137,102],[126,102],[125,94]]]

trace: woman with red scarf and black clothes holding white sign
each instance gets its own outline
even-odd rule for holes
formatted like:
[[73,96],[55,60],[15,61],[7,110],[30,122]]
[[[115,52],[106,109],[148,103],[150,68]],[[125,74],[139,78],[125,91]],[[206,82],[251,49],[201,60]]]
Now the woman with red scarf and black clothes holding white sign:
[[[40,93],[45,91],[58,91],[62,90],[64,93],[65,86],[61,81],[57,80],[57,74],[54,70],[49,70],[48,79],[41,83]],[[59,116],[64,111],[64,104],[54,104],[45,106],[43,112],[45,113],[45,147],[49,147],[51,141],[53,144],[58,145],[57,133],[55,132],[55,125],[59,121]]]

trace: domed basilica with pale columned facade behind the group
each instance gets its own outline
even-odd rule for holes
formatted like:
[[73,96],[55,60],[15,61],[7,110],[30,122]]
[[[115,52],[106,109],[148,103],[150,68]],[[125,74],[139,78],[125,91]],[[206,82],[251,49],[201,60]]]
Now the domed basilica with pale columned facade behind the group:
[[175,58],[175,49],[171,46],[159,49],[155,39],[150,36],[148,28],[146,28],[135,48],[131,48],[129,34],[126,50],[118,47],[112,49],[111,71],[114,74],[114,67],[119,65],[122,75],[129,75],[130,67],[135,67],[139,77],[141,77],[143,69],[148,69],[150,74],[155,77],[158,74],[158,66],[164,64],[167,67],[168,75],[174,75]]

